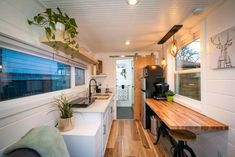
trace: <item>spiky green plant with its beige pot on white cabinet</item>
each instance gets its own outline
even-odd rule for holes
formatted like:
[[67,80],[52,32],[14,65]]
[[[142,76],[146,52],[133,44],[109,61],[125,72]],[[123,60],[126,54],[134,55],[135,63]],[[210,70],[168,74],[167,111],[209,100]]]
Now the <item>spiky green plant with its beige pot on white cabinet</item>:
[[74,128],[72,104],[64,95],[61,95],[56,99],[56,105],[60,111],[58,129],[62,132],[72,130]]

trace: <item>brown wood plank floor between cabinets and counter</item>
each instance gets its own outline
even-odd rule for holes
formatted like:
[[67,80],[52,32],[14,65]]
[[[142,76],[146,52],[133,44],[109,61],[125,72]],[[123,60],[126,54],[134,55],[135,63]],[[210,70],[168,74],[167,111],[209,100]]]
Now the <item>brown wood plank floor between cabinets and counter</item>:
[[169,157],[167,147],[153,145],[154,138],[149,131],[142,128],[139,121],[115,120],[105,157]]

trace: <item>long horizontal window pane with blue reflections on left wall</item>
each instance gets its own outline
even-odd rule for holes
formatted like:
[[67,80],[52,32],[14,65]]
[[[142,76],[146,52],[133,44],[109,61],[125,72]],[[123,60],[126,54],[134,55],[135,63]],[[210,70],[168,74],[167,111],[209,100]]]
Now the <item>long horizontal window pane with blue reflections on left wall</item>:
[[70,88],[70,77],[69,65],[0,49],[0,101]]

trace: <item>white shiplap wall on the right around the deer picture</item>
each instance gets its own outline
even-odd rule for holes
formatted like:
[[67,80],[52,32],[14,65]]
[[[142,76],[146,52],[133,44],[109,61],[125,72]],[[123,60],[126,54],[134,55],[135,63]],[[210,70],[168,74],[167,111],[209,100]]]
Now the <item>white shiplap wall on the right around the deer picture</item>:
[[[201,45],[203,100],[198,110],[227,124],[229,130],[199,135],[195,143],[190,143],[198,157],[235,156],[235,69],[212,70],[210,56],[213,52],[209,44],[211,36],[235,26],[234,8],[235,1],[227,0],[201,21],[201,42],[205,44]],[[167,59],[174,62],[172,57]],[[174,85],[173,69],[168,65],[167,79],[171,86]]]

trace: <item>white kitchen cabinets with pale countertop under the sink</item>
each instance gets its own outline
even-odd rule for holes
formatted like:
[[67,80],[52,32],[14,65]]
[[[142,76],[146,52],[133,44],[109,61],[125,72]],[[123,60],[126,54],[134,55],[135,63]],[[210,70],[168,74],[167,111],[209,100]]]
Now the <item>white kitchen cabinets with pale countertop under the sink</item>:
[[111,131],[114,97],[96,100],[84,109],[75,109],[75,128],[63,132],[71,157],[102,157]]

